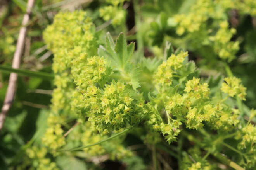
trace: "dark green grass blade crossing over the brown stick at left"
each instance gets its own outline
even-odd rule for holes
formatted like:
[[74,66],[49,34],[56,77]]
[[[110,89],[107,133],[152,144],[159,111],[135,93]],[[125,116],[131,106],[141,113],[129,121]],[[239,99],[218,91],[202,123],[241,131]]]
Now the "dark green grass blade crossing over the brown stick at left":
[[10,66],[0,65],[0,70],[7,72],[7,73],[17,73],[17,75],[22,75],[22,76],[38,77],[38,78],[42,78],[44,80],[53,80],[54,79],[54,75],[50,74],[50,73],[16,69],[16,68],[12,68]]

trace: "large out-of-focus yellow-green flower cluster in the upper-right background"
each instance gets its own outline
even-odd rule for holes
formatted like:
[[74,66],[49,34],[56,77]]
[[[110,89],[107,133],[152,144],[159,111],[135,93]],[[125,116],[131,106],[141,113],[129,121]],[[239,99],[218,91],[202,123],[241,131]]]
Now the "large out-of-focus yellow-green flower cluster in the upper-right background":
[[[197,0],[188,14],[175,15],[176,34],[185,35],[185,39],[191,41],[192,48],[210,45],[220,58],[232,61],[239,50],[239,42],[231,41],[236,30],[229,28],[227,17],[224,16],[233,3],[228,3],[227,6],[226,2]],[[234,8],[236,7],[238,6],[234,5]],[[209,24],[208,19],[214,19],[214,22]]]

